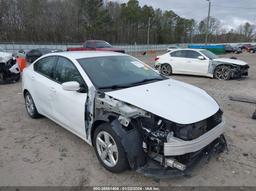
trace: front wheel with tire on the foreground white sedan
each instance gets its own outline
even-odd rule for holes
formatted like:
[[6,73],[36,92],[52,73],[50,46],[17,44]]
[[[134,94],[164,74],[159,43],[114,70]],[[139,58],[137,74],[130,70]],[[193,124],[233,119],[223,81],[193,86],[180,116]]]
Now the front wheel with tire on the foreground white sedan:
[[97,158],[104,168],[114,173],[128,169],[124,148],[110,124],[104,123],[97,127],[93,136],[93,145]]

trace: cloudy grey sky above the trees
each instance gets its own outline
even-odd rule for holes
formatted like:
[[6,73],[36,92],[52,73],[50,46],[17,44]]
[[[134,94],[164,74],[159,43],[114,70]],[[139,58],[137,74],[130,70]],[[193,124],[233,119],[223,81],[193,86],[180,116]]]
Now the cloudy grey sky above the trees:
[[[127,2],[128,0],[114,0]],[[139,0],[140,5],[151,5],[162,10],[173,10],[179,16],[201,21],[207,17],[206,0]],[[218,18],[222,27],[236,29],[240,24],[256,24],[256,0],[211,0],[211,16]]]

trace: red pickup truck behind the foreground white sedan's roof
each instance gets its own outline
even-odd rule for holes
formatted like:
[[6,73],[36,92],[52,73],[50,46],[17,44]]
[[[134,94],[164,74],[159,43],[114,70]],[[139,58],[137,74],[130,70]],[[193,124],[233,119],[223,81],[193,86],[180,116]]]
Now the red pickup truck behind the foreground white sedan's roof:
[[114,48],[111,44],[103,40],[87,40],[83,44],[83,47],[67,48],[67,51],[93,51],[93,50],[125,53],[124,50]]

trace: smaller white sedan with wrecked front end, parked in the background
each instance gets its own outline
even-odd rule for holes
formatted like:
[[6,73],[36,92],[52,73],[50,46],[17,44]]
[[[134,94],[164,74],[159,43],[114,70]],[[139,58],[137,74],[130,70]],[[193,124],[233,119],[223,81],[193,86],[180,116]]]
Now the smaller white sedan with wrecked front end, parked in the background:
[[157,56],[155,68],[163,75],[185,74],[229,80],[248,76],[249,66],[236,58],[219,58],[204,49],[176,49]]

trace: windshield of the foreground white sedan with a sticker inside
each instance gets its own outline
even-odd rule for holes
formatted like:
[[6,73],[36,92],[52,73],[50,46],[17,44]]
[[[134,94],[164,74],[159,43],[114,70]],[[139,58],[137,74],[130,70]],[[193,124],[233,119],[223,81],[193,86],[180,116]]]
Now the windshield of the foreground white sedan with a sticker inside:
[[83,58],[78,62],[98,89],[121,89],[167,79],[130,56]]

